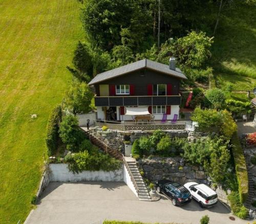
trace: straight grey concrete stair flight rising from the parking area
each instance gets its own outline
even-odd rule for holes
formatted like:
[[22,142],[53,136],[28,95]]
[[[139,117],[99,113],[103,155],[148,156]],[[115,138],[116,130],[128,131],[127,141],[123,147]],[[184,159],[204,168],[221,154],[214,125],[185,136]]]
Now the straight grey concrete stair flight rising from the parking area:
[[139,200],[151,200],[151,196],[146,189],[145,183],[140,175],[136,162],[135,161],[126,161],[126,162],[129,166],[129,169],[131,170],[135,183],[139,189],[139,193],[138,193]]

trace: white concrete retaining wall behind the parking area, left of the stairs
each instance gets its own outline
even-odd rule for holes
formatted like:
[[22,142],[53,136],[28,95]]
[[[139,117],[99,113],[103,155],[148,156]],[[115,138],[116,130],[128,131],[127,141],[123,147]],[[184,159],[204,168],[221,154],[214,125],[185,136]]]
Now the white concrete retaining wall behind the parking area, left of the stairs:
[[115,171],[82,171],[73,173],[67,164],[50,164],[51,181],[123,181],[123,169]]

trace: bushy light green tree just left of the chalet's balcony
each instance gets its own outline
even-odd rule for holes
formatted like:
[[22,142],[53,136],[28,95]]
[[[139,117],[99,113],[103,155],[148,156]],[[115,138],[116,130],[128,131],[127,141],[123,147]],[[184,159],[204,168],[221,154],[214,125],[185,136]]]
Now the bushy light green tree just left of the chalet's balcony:
[[66,104],[69,109],[76,113],[88,113],[93,93],[85,82],[73,82],[67,93]]

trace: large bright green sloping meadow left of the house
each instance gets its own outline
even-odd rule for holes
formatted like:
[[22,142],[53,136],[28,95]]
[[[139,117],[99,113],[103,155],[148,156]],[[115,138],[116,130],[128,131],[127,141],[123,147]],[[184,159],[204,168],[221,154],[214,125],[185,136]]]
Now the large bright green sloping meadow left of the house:
[[17,223],[39,185],[50,111],[71,81],[66,65],[82,37],[79,5],[2,0],[0,30],[0,223]]

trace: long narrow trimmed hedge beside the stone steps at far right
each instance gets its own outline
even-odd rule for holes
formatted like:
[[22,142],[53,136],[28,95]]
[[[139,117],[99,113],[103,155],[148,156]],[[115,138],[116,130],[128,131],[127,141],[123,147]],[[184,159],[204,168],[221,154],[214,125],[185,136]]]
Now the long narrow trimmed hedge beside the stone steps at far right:
[[234,157],[234,165],[236,168],[236,175],[238,179],[238,191],[241,203],[245,203],[248,196],[248,174],[246,169],[246,162],[243,150],[238,138],[238,133],[235,132],[231,139],[232,152]]

